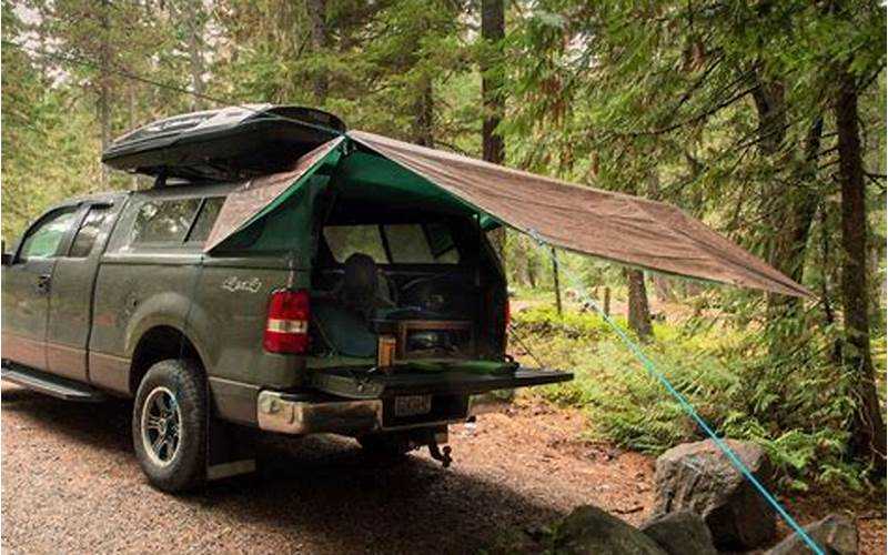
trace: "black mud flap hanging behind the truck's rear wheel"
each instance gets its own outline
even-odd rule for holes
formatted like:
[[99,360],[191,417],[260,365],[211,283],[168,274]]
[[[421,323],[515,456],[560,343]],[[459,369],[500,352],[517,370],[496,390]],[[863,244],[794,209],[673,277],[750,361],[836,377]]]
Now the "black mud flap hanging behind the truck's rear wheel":
[[256,470],[255,431],[210,417],[206,434],[206,480],[222,480]]

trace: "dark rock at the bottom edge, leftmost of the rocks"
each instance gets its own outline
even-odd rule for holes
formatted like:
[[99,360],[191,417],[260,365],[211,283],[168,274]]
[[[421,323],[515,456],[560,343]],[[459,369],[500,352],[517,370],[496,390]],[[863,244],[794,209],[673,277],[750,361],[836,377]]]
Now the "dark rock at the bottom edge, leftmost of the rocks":
[[601,508],[575,508],[555,528],[552,553],[613,555],[667,555],[639,529]]

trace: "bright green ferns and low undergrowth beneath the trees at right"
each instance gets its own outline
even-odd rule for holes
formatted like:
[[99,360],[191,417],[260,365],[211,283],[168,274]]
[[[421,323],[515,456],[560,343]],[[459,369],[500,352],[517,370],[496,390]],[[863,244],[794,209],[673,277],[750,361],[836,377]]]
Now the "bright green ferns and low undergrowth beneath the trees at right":
[[[616,319],[625,326],[625,320]],[[588,435],[657,455],[704,438],[679,403],[650,376],[605,322],[592,313],[558,316],[551,307],[514,315],[522,362],[574,372],[572,382],[534,390],[561,405],[582,408]],[[761,333],[728,325],[655,322],[643,346],[657,369],[720,435],[763,446],[784,491],[813,484],[855,491],[874,486],[867,468],[848,455],[854,405],[840,365],[823,356],[830,337],[810,339],[779,360],[768,355]],[[885,381],[885,340],[874,346]],[[884,391],[882,391],[884,395]]]

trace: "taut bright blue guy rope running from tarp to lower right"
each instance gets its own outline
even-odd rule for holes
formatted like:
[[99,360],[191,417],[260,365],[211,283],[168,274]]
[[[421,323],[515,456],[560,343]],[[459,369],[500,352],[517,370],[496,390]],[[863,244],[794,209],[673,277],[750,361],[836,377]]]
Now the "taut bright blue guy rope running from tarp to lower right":
[[[551,250],[551,249],[547,250],[547,249],[543,248],[547,243],[542,236],[539,236],[539,233],[536,230],[531,230],[528,234],[531,235],[531,238],[534,239],[534,241],[537,242],[539,249],[543,252],[545,252],[549,258],[554,259],[555,251]],[[552,246],[552,245],[549,245],[549,246]],[[761,482],[759,482],[758,478],[755,477],[755,475],[753,475],[751,471],[749,471],[749,468],[746,466],[746,464],[744,464],[744,462],[734,452],[734,450],[731,450],[715,433],[715,431],[709,426],[709,424],[705,420],[703,420],[703,417],[699,414],[697,414],[697,411],[694,408],[694,405],[692,405],[690,402],[684,395],[682,395],[682,393],[678,390],[675,389],[675,386],[672,384],[672,382],[669,382],[669,380],[659,370],[657,370],[657,366],[654,364],[654,362],[650,359],[647,357],[647,355],[644,353],[642,347],[638,346],[638,344],[635,343],[626,334],[626,332],[624,332],[623,329],[620,329],[616,324],[616,322],[614,322],[610,319],[610,316],[607,315],[604,312],[604,310],[602,310],[602,307],[598,305],[598,303],[594,299],[592,299],[589,295],[587,295],[585,293],[585,287],[576,286],[577,284],[581,284],[579,280],[575,280],[575,276],[569,271],[565,272],[564,269],[563,269],[562,272],[565,273],[565,275],[567,276],[568,280],[574,282],[575,289],[579,293],[579,295],[583,297],[584,302],[587,303],[589,306],[592,306],[595,310],[595,312],[597,312],[598,315],[602,316],[602,319],[605,321],[605,323],[607,323],[607,325],[609,325],[610,329],[614,330],[614,332],[619,336],[619,339],[623,341],[623,343],[629,349],[629,351],[635,355],[635,357],[638,359],[638,361],[645,367],[647,373],[650,376],[655,377],[660,384],[663,384],[663,386],[666,389],[666,391],[668,391],[669,394],[673,397],[675,397],[676,401],[678,401],[678,404],[682,405],[682,407],[685,410],[685,412],[694,420],[694,422],[697,423],[697,425],[706,433],[706,435],[708,435],[713,440],[713,442],[716,444],[716,446],[718,446],[718,448],[722,450],[722,452],[725,454],[725,456],[727,456],[728,461],[730,461],[730,464],[733,464],[734,467],[737,468],[737,471],[746,480],[748,480],[750,484],[753,484],[753,486],[758,491],[758,493],[761,495],[761,497],[764,497],[765,501],[768,502],[768,504],[771,507],[774,507],[774,509],[777,512],[777,514],[780,515],[780,517],[784,519],[784,522],[786,522],[786,524],[789,525],[789,527],[793,528],[793,531],[796,534],[798,534],[799,537],[801,537],[801,539],[805,542],[805,544],[814,553],[816,553],[817,555],[826,555],[826,552],[823,549],[823,547],[817,545],[817,543],[808,535],[808,533],[805,532],[805,528],[803,528],[796,522],[796,519],[793,518],[793,516],[783,507],[783,505],[780,505],[780,502],[777,501],[777,498],[768,491],[768,488],[765,487],[765,485],[761,484]]]

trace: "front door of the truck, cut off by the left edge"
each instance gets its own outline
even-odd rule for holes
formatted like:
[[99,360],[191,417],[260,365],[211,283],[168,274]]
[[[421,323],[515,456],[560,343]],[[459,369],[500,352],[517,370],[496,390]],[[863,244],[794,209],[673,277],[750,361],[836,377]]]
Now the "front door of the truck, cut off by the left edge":
[[26,232],[11,263],[3,266],[3,359],[47,369],[52,269],[70,243],[77,215],[77,205],[46,213]]

